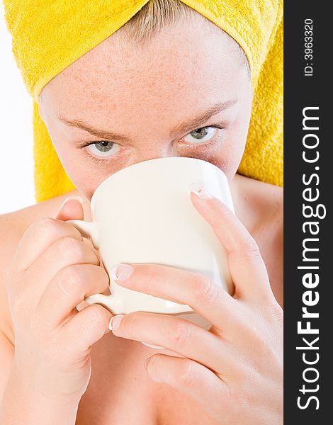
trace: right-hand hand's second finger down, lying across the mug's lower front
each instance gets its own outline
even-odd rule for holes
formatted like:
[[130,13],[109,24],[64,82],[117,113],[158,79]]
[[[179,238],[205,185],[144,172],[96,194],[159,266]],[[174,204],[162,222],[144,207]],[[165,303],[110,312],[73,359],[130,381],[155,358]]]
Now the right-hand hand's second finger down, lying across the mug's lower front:
[[[121,271],[123,266],[132,266],[132,274],[127,278]],[[220,330],[227,327],[232,329],[242,320],[237,300],[199,273],[160,264],[132,263],[122,264],[118,270],[111,268],[111,275],[116,283],[125,288],[189,305]]]

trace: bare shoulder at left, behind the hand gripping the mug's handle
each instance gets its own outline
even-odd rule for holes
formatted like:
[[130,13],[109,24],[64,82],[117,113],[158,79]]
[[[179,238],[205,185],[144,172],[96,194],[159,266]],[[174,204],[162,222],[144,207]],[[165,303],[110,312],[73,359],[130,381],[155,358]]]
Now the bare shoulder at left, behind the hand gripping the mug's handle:
[[57,211],[67,196],[69,196],[69,193],[0,215],[0,330],[12,343],[13,325],[6,288],[4,287],[4,271],[15,254],[26,229],[40,217],[56,217]]

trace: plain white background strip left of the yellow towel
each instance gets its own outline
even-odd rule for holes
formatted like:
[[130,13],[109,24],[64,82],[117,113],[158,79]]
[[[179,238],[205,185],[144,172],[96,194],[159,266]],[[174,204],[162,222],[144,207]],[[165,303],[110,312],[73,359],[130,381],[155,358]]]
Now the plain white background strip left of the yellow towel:
[[0,1],[0,214],[35,201],[33,101],[11,51],[11,34]]

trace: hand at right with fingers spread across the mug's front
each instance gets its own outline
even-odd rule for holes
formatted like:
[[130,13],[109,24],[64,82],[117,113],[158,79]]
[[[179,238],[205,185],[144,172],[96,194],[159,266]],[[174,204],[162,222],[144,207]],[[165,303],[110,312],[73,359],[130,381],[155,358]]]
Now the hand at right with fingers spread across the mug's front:
[[213,326],[205,330],[168,314],[134,312],[113,334],[184,356],[154,354],[147,373],[196,399],[218,423],[282,424],[283,312],[258,246],[220,200],[191,193],[191,201],[225,246],[234,295],[201,274],[132,264],[125,280],[126,271],[118,269],[119,285],[187,304]]

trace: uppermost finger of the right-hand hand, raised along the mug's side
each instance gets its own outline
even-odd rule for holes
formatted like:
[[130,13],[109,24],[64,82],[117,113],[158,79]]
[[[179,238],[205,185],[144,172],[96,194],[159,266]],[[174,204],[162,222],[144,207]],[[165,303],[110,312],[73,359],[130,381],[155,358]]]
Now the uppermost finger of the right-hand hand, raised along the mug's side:
[[191,193],[195,208],[212,226],[227,251],[237,297],[271,295],[271,286],[259,247],[236,215],[218,198],[201,199]]

